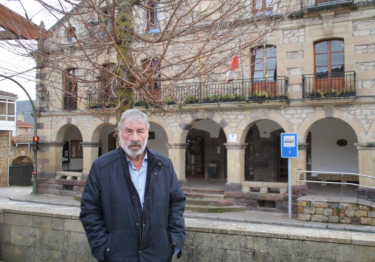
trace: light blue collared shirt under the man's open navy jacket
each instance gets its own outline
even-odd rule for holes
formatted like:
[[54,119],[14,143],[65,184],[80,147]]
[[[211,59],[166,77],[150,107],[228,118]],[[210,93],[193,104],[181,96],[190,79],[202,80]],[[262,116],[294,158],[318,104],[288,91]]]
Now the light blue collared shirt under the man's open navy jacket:
[[141,200],[142,210],[144,205],[144,192],[146,190],[146,177],[147,177],[147,151],[145,152],[142,167],[140,170],[134,167],[132,161],[126,157],[127,165],[129,166],[130,178],[132,179],[133,185],[138,192],[139,200]]

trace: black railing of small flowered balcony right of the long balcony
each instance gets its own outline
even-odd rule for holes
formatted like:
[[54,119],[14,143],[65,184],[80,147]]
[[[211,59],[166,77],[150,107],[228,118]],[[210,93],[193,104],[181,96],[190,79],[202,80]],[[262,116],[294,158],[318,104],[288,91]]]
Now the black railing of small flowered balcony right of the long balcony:
[[356,72],[305,74],[303,98],[353,97],[356,95]]

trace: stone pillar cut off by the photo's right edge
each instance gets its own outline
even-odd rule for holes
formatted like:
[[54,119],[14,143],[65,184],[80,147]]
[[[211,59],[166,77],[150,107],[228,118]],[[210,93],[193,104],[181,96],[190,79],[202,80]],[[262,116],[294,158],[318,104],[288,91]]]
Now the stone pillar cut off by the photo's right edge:
[[[359,174],[372,176],[359,177],[360,185],[375,187],[375,142],[355,143],[358,149],[358,168]],[[375,189],[359,187],[357,189],[357,198],[375,200]]]

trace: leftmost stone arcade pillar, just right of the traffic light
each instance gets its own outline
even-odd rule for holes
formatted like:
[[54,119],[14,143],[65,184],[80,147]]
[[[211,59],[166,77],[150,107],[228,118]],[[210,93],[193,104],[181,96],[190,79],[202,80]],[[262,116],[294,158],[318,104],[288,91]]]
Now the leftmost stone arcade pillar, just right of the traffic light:
[[37,155],[37,177],[55,179],[62,170],[62,153],[65,142],[39,142]]

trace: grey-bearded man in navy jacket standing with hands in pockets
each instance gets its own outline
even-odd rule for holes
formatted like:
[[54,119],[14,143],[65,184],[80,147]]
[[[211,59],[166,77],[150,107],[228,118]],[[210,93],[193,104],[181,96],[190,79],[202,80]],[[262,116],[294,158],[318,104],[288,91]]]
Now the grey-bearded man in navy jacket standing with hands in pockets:
[[98,261],[171,261],[185,241],[185,196],[171,159],[146,147],[147,116],[126,110],[120,147],[91,167],[80,220]]

